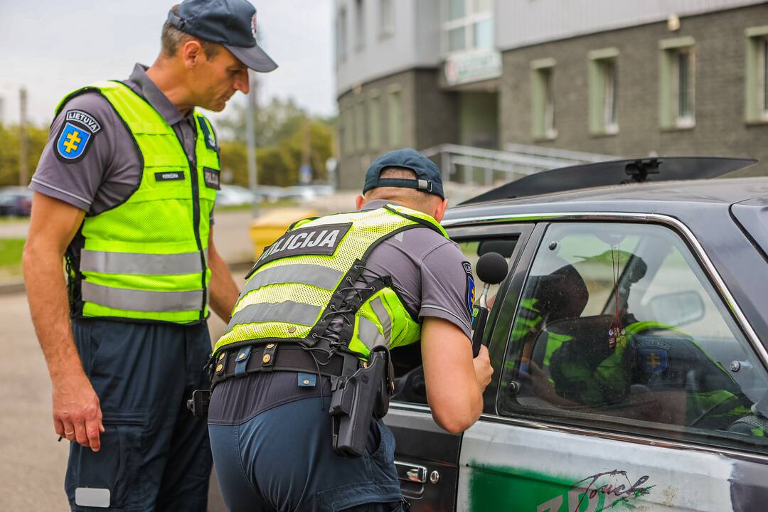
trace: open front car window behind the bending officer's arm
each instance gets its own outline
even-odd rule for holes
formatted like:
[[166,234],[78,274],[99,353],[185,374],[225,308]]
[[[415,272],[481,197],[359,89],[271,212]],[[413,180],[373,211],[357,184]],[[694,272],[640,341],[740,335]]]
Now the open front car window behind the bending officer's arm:
[[[472,264],[472,274],[475,279],[475,300],[477,302],[483,289],[483,283],[477,275],[477,262],[485,253],[500,253],[510,264],[512,254],[518,242],[518,235],[485,237],[479,239],[463,238],[455,239],[459,249],[462,250],[465,259]],[[492,285],[488,289],[488,307],[493,306],[499,285]],[[396,394],[392,400],[404,401],[416,404],[426,404],[426,387],[424,372],[422,371],[421,345],[414,344],[406,347],[398,347],[392,350],[392,362],[396,375]]]

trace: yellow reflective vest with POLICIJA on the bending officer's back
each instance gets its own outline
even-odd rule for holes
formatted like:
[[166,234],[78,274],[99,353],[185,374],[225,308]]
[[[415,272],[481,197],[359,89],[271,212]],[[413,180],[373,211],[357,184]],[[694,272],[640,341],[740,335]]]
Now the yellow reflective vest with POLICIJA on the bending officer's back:
[[396,205],[296,223],[264,249],[237,299],[227,332],[214,348],[214,358],[224,348],[253,342],[312,347],[330,338],[361,359],[376,345],[393,348],[417,342],[418,312],[406,309],[389,276],[363,274],[368,286],[358,285],[359,292],[352,288],[366,272],[372,249],[419,226],[448,237],[431,216]]

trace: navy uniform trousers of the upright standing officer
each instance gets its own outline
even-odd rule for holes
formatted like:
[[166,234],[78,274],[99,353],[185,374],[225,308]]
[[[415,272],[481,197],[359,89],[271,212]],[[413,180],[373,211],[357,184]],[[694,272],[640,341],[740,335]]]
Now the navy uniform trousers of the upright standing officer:
[[[194,389],[210,387],[207,325],[74,319],[72,330],[105,428],[97,453],[70,445],[65,488],[72,510],[205,512],[207,424],[186,401]],[[108,489],[109,509],[75,504],[78,487]]]

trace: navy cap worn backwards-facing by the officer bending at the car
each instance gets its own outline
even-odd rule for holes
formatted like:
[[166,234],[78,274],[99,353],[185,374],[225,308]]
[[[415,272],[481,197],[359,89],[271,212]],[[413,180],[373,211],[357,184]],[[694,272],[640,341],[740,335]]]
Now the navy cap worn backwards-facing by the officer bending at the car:
[[[388,167],[401,167],[410,169],[416,173],[415,180],[402,178],[380,178],[382,170]],[[389,151],[373,161],[366,170],[366,184],[362,187],[362,193],[376,187],[406,187],[433,193],[445,199],[442,193],[442,174],[432,160],[425,157],[419,151],[406,148]]]

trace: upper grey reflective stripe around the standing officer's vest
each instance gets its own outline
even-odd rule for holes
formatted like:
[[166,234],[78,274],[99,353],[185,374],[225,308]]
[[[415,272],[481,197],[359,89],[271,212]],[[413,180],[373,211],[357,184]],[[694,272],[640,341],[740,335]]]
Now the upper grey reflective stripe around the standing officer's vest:
[[[205,249],[208,261],[208,249]],[[200,253],[142,254],[90,251],[80,253],[81,272],[104,274],[143,274],[145,276],[174,276],[194,274],[200,269]],[[152,309],[151,311],[156,311]]]

